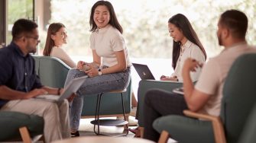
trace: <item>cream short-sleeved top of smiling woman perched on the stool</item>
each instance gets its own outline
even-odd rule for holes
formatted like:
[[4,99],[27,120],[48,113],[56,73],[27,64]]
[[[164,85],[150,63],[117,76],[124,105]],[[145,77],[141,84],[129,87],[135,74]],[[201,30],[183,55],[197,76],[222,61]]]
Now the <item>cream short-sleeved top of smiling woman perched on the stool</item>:
[[90,47],[96,50],[98,56],[102,57],[102,65],[109,67],[118,63],[115,52],[125,50],[127,66],[131,66],[122,33],[110,24],[91,34]]

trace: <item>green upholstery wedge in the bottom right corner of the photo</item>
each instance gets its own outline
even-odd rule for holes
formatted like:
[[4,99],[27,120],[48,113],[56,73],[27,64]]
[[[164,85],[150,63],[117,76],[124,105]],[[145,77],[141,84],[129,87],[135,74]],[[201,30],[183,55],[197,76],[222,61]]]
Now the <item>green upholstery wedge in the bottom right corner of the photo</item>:
[[238,140],[238,143],[252,143],[256,142],[256,104],[254,105],[254,109],[251,111],[250,116],[248,116],[248,120],[246,122],[245,128],[241,133],[241,137]]

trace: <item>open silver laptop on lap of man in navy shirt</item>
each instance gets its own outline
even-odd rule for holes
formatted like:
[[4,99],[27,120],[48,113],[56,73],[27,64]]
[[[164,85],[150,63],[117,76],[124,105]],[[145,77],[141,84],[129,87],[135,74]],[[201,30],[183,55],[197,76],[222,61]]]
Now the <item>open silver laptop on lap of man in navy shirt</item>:
[[51,100],[55,102],[60,102],[72,95],[73,93],[76,93],[76,91],[79,89],[79,87],[83,84],[83,82],[88,78],[88,76],[83,76],[81,78],[73,78],[70,83],[64,88],[64,91],[60,96],[58,95],[39,95],[35,97],[36,99],[44,99],[44,100]]

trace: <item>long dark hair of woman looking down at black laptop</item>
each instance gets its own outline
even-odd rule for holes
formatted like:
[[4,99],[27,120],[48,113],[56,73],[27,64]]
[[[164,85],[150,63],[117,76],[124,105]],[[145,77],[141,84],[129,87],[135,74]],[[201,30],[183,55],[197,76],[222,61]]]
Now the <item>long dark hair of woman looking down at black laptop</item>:
[[[192,43],[199,46],[199,48],[203,52],[203,55],[205,56],[205,59],[207,58],[206,50],[203,48],[203,45],[200,42],[199,38],[197,37],[195,30],[193,30],[193,27],[191,26],[190,21],[185,17],[185,15],[176,14],[173,17],[170,17],[168,23],[173,24],[177,28],[182,30],[184,37],[186,37],[187,40],[190,40]],[[179,56],[180,56],[180,48],[181,48],[180,41],[175,42],[173,40],[173,63],[172,63],[172,66],[174,69],[176,68],[177,60],[179,59]]]

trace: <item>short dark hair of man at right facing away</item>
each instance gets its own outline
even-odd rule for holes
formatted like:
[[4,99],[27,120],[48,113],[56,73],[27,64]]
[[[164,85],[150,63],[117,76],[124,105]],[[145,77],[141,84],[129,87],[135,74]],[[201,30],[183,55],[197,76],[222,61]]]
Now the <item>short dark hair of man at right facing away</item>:
[[246,15],[238,10],[225,11],[220,17],[220,24],[231,31],[235,38],[245,38],[248,28],[248,18]]

